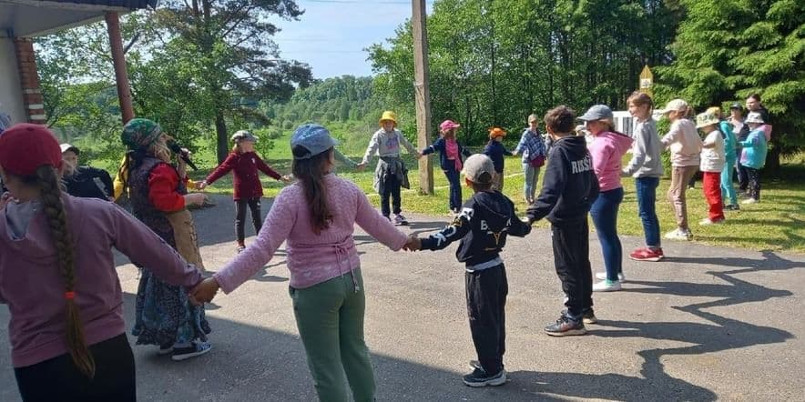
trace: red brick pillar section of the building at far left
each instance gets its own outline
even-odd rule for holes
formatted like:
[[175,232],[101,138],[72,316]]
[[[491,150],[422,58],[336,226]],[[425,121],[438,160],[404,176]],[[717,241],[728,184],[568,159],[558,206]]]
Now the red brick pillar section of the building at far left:
[[17,70],[22,85],[25,118],[28,123],[44,125],[46,122],[42,90],[39,88],[39,72],[36,70],[34,41],[26,37],[15,37],[14,48]]

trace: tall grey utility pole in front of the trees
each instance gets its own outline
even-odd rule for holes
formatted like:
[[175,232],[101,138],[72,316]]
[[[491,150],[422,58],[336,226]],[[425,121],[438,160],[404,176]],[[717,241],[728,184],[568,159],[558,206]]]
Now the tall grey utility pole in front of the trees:
[[[413,92],[416,95],[416,145],[431,145],[431,91],[428,84],[428,29],[425,0],[412,0],[413,16]],[[419,187],[433,195],[433,163],[430,156],[419,158]]]

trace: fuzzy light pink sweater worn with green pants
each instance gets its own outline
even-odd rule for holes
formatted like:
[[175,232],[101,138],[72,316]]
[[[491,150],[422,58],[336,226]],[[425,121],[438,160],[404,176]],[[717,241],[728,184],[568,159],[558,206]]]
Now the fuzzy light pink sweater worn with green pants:
[[334,175],[324,176],[330,227],[317,235],[301,183],[287,186],[274,200],[257,240],[215,274],[225,293],[254,276],[269,263],[286,239],[290,286],[301,289],[347,274],[360,266],[352,240],[354,224],[392,250],[408,240],[388,219],[372,207],[358,186]]

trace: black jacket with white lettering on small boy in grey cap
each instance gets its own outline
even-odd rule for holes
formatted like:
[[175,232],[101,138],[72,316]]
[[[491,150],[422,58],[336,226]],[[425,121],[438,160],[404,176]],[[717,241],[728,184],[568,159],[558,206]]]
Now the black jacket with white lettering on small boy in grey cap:
[[423,238],[422,248],[441,250],[461,240],[456,258],[467,266],[477,266],[499,256],[507,235],[523,237],[529,232],[531,226],[515,215],[512,201],[497,191],[482,191],[464,203],[453,223]]

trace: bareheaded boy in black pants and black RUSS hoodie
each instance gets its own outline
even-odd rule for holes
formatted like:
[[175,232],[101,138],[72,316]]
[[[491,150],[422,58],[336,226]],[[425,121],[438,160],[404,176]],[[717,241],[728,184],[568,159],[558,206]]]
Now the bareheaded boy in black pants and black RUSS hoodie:
[[545,114],[554,146],[542,191],[526,211],[529,224],[545,216],[551,222],[554,264],[567,307],[555,324],[545,327],[545,333],[554,337],[584,335],[585,322],[596,322],[587,214],[598,196],[598,180],[585,137],[573,135],[575,120],[573,110],[566,106]]

